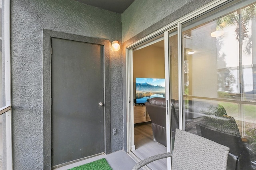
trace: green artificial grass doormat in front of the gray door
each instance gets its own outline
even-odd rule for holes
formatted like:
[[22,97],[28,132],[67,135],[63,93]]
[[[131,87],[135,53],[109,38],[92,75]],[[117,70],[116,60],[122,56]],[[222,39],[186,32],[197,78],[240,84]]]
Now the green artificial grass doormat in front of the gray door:
[[108,164],[108,161],[105,158],[102,158],[69,170],[112,170],[112,168]]

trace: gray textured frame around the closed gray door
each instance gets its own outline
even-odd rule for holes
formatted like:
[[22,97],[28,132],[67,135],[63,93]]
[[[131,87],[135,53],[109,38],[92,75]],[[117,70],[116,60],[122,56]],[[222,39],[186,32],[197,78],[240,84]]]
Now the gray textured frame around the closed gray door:
[[[104,152],[111,152],[111,127],[110,127],[110,59],[109,40],[91,38],[75,34],[56,32],[52,30],[42,30],[42,63],[43,63],[43,152],[44,169],[52,168],[52,121],[51,121],[51,38],[61,38],[66,40],[94,43],[104,46]],[[81,159],[80,159],[81,160]],[[75,161],[74,161],[75,162]],[[73,162],[72,162],[73,163]],[[65,163],[66,164],[66,163]]]

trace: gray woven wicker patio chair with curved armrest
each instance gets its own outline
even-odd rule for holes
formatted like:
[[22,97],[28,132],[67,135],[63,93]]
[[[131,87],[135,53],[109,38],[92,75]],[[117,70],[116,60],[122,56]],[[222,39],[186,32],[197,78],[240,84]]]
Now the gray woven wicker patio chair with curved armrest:
[[226,170],[229,148],[183,130],[176,129],[173,154],[164,153],[138,162],[132,170],[172,156],[172,170]]

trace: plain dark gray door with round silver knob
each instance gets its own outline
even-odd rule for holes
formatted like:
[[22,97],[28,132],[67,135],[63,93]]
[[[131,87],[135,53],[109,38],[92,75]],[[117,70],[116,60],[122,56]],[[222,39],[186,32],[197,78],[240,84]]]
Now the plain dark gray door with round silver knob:
[[52,166],[104,152],[104,46],[51,38]]

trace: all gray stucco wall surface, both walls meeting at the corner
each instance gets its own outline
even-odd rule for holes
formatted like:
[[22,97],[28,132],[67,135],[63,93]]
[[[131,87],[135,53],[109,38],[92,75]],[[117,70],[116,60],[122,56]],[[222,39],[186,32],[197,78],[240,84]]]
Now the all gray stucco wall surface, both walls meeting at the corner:
[[135,0],[122,14],[121,25],[120,14],[73,0],[12,0],[14,170],[43,169],[42,29],[124,42],[122,51],[110,48],[111,129],[118,129],[111,134],[114,152],[126,150],[127,141],[125,47],[210,1]]

